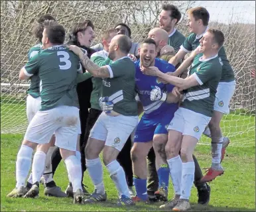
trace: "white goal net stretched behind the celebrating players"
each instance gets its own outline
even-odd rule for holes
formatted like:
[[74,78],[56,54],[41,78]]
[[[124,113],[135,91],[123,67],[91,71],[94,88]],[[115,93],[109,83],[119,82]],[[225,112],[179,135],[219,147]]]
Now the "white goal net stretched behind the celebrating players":
[[[2,1],[1,2],[1,133],[24,133],[28,121],[26,97],[29,81],[19,80],[19,70],[27,62],[29,48],[37,40],[31,34],[35,19],[51,14],[66,28],[66,41],[71,26],[90,19],[101,33],[117,23],[131,27],[132,40],[147,38],[149,30],[158,26],[164,3],[176,5],[182,19],[177,28],[188,36],[187,9],[206,7],[210,26],[225,34],[227,58],[235,72],[237,87],[231,100],[231,113],[225,115],[222,130],[233,145],[253,146],[255,142],[255,1]],[[204,138],[202,144],[208,144]]]

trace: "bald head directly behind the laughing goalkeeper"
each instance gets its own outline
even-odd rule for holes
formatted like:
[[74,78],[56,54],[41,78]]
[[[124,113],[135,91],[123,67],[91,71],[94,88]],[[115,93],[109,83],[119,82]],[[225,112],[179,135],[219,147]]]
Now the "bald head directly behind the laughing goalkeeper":
[[157,43],[157,49],[168,44],[168,32],[162,28],[153,28],[149,31],[148,38],[152,38]]

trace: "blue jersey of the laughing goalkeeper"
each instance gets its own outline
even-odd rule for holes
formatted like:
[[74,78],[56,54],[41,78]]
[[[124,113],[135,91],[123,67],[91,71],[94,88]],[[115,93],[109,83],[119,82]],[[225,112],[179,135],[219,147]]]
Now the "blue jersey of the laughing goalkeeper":
[[[164,101],[151,101],[150,95],[151,90],[158,86],[162,92],[169,93],[172,91],[174,85],[161,83],[155,76],[147,76],[141,72],[140,69],[140,60],[135,62],[136,68],[136,91],[139,96],[139,101],[141,101],[144,109],[145,115],[147,117],[154,117],[160,113],[173,113],[178,108],[178,103],[166,103]],[[155,58],[155,66],[163,73],[174,72],[175,67],[168,62]]]

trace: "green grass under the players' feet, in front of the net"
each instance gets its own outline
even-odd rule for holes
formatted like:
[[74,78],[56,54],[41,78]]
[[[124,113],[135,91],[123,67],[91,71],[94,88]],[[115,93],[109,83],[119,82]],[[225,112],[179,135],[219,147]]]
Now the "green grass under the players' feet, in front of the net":
[[[134,207],[116,207],[117,190],[104,167],[104,183],[107,191],[107,203],[95,205],[73,205],[72,199],[58,199],[43,195],[40,186],[38,199],[10,199],[6,195],[15,187],[15,161],[23,139],[22,134],[1,134],[1,211],[159,211],[160,203]],[[207,140],[209,142],[209,140]],[[210,146],[198,145],[195,151],[202,168],[210,166]],[[210,184],[212,188],[209,205],[196,205],[197,191],[192,188],[192,211],[255,211],[255,148],[251,146],[229,146],[223,166],[225,174]],[[56,183],[66,189],[68,176],[64,163],[54,176]],[[93,191],[94,187],[88,173],[84,182]],[[169,197],[173,189],[170,182]]]

